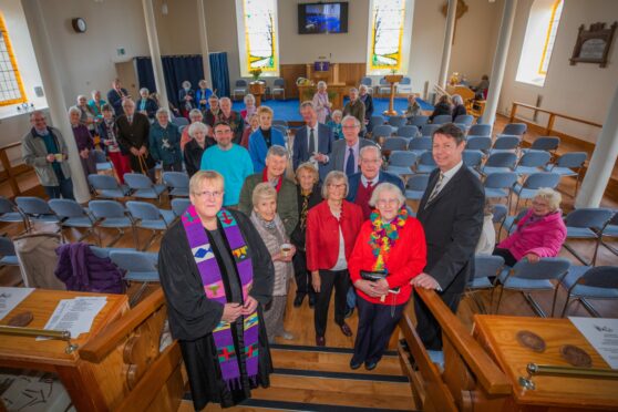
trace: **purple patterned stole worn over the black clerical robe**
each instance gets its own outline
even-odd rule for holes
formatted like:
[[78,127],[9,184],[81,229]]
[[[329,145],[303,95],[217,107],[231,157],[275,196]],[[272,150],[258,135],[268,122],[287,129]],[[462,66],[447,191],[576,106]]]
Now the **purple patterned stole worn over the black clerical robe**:
[[[231,216],[229,212],[225,209],[219,210],[217,218],[222,223],[225,236],[229,243],[243,286],[243,300],[246,300],[254,280],[254,270],[248,246],[243,239],[236,219],[234,219],[234,216]],[[208,236],[204,230],[204,226],[202,226],[202,220],[199,220],[195,212],[195,206],[190,205],[187,208],[182,216],[182,222],[197,269],[199,270],[199,276],[202,277],[202,282],[204,284],[206,297],[222,305],[228,303],[229,299],[225,295],[222,270],[217,264],[213,248],[208,243]],[[241,350],[245,351],[246,356],[247,374],[249,379],[255,382],[258,372],[259,328],[257,311],[246,317],[243,325],[245,348]],[[217,347],[219,367],[224,381],[230,390],[240,388],[239,362],[241,362],[243,359],[236,353],[230,323],[222,320],[213,331],[213,338]]]

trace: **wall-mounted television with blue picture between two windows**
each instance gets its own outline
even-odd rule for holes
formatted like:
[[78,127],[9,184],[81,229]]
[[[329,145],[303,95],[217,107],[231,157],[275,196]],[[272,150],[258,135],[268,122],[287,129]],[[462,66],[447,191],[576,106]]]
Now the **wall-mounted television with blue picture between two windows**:
[[298,4],[298,33],[347,33],[348,2]]

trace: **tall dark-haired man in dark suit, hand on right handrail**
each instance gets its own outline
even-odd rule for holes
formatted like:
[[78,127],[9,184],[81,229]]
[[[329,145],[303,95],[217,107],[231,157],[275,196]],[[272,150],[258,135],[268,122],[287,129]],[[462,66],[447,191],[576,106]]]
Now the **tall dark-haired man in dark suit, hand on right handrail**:
[[[447,123],[433,133],[433,158],[416,218],[425,229],[428,265],[412,279],[416,288],[434,289],[453,312],[471,277],[474,249],[483,227],[485,193],[481,181],[463,164],[465,138]],[[416,331],[430,350],[442,349],[442,332],[429,308],[414,299]]]

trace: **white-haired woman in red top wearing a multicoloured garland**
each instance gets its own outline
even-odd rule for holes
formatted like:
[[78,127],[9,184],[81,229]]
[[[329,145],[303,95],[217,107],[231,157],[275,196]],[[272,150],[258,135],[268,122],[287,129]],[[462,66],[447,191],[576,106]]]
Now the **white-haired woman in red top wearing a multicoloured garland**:
[[[375,368],[410,299],[410,280],[425,267],[425,233],[404,202],[395,185],[375,187],[369,200],[375,210],[362,225],[348,261],[360,298],[352,369],[363,362],[367,370]],[[367,280],[369,274],[379,280]]]

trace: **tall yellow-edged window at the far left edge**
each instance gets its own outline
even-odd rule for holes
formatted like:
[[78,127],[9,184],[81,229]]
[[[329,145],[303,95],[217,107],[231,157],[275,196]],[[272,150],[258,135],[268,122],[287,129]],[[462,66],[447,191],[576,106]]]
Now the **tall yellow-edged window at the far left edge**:
[[16,55],[0,13],[0,106],[25,102],[23,83],[19,74]]

